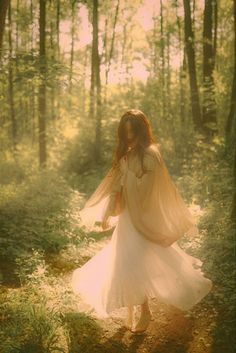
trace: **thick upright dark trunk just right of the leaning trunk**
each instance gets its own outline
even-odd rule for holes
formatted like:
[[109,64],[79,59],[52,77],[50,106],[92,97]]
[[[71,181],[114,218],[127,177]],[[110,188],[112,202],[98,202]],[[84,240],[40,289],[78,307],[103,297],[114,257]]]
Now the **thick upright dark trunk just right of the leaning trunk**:
[[212,135],[216,128],[216,102],[214,87],[214,51],[213,51],[213,7],[212,0],[205,0],[203,22],[203,112],[205,130]]

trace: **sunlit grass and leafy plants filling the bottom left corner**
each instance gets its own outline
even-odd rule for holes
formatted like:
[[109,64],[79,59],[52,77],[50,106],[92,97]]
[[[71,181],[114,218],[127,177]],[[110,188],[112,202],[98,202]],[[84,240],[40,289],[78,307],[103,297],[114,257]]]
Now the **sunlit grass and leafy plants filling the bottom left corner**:
[[0,351],[69,353],[96,345],[101,328],[78,313],[70,276],[56,277],[36,250],[18,265],[22,287],[0,288]]

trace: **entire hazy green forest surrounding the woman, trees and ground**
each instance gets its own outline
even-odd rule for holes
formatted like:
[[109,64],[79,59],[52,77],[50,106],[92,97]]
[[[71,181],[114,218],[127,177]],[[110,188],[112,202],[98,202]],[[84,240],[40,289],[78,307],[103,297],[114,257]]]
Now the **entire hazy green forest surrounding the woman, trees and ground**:
[[[198,215],[178,243],[214,282],[187,314],[158,304],[142,337],[70,288],[111,238],[79,210],[129,109]],[[0,0],[0,127],[0,352],[235,352],[236,0]]]

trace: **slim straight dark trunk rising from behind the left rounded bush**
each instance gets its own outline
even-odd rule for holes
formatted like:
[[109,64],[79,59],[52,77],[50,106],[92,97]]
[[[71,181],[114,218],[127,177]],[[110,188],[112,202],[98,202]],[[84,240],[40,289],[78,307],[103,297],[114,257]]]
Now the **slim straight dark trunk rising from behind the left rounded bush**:
[[38,97],[39,165],[46,166],[46,0],[40,0],[39,15],[40,85]]

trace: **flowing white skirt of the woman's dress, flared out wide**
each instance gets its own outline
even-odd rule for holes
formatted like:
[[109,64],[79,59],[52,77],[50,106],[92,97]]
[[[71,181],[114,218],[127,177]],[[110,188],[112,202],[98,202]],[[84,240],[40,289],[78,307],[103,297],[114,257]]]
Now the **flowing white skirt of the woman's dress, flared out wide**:
[[125,208],[110,241],[74,270],[71,284],[98,317],[109,317],[115,309],[142,304],[146,296],[188,310],[213,285],[201,265],[200,259],[188,255],[177,242],[164,248],[143,237]]

